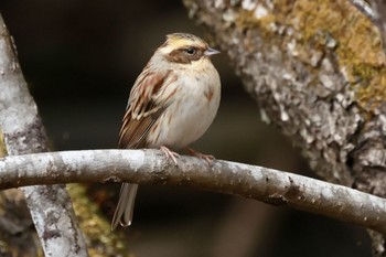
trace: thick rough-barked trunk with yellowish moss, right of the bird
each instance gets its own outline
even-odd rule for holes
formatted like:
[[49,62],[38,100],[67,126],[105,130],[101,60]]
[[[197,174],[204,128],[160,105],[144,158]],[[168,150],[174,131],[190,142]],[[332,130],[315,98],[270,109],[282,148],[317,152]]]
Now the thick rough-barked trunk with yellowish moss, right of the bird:
[[[347,0],[184,4],[318,175],[386,196],[385,54],[369,19]],[[385,238],[371,235],[386,256]]]

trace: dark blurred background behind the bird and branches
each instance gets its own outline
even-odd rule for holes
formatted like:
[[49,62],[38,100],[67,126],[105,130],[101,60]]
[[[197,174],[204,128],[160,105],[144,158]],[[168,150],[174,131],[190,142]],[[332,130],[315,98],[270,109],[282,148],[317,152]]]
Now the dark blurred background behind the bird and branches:
[[[164,35],[210,39],[176,0],[1,0],[0,12],[54,150],[116,148],[130,87]],[[226,55],[213,62],[222,77],[222,104],[193,147],[217,159],[313,176],[299,149],[261,124]],[[101,210],[110,221],[120,185],[93,185],[90,194],[98,192],[94,186],[114,192]],[[140,186],[133,225],[125,234],[130,251],[147,257],[371,256],[358,227],[181,188]]]

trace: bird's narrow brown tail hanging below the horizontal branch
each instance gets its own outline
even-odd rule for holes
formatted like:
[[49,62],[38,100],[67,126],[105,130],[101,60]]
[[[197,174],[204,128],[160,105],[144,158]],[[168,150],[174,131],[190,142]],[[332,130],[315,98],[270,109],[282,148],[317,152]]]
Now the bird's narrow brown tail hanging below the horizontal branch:
[[130,226],[132,221],[132,212],[136,203],[138,184],[124,183],[120,188],[119,202],[114,213],[111,222],[111,231],[118,224],[121,226]]

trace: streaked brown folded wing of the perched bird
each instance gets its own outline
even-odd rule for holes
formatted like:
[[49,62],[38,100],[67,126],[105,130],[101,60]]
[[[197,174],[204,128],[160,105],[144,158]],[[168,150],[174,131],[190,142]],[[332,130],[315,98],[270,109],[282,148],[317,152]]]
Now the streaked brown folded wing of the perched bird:
[[146,147],[147,135],[168,107],[168,103],[157,100],[156,97],[162,87],[173,82],[170,75],[171,71],[151,73],[148,66],[139,75],[130,92],[129,104],[119,132],[119,148]]

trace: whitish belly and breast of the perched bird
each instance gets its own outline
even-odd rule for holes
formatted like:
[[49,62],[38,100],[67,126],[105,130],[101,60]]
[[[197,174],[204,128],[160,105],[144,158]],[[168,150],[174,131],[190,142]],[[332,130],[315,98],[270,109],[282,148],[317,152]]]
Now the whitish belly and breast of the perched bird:
[[148,136],[148,147],[181,149],[204,135],[217,114],[221,85],[218,75],[215,79],[202,77],[202,81],[207,83],[196,84],[182,78],[180,88],[185,96],[175,97],[160,116],[154,126],[161,129],[159,133]]

